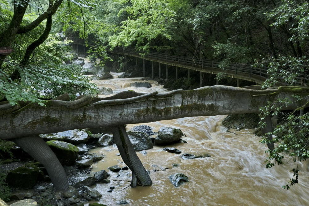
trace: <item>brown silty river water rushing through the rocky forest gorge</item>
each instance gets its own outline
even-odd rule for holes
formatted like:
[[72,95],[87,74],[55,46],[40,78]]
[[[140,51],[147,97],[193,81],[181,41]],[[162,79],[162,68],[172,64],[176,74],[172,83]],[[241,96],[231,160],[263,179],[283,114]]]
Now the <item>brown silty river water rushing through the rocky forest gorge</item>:
[[[115,77],[120,73],[113,73]],[[130,82],[150,82],[151,88],[130,87]],[[115,93],[122,90],[136,92],[164,92],[163,86],[153,80],[126,78],[94,80],[99,86],[109,87]],[[130,205],[309,205],[308,165],[300,162],[299,184],[290,190],[282,189],[292,173],[294,162],[288,161],[274,168],[265,168],[267,147],[259,143],[260,137],[251,129],[226,132],[221,126],[225,116],[187,117],[146,123],[157,132],[162,126],[180,128],[188,143],[154,146],[147,154],[137,152],[146,170],[150,171],[153,185],[129,187],[130,170],[113,173],[109,166],[125,166],[115,145],[99,147],[90,152],[105,154],[103,160],[93,164],[93,172],[107,170],[110,183],[97,183],[95,189],[102,193],[98,203],[116,205],[117,200],[127,200]],[[128,124],[127,130],[138,124]],[[183,160],[181,154],[168,153],[162,149],[175,147],[182,153],[205,154],[211,157]],[[173,167],[173,164],[178,164]],[[168,168],[168,169],[166,169]],[[168,176],[183,173],[189,182],[175,187]],[[109,187],[115,189],[109,193]]]

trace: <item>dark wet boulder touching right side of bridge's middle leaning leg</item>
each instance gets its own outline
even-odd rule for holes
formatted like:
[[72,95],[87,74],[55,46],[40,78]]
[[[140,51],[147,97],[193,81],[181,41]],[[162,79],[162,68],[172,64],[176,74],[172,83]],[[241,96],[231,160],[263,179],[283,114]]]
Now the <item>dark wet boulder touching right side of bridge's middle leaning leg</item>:
[[129,140],[135,151],[142,151],[154,147],[150,137],[144,132],[127,132]]

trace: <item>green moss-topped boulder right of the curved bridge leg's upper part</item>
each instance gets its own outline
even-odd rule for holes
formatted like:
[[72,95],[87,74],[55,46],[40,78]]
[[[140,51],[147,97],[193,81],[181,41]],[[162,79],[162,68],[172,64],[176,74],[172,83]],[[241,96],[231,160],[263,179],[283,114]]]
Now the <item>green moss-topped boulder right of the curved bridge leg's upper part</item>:
[[78,157],[77,146],[59,140],[47,141],[46,144],[53,150],[63,166],[71,166],[75,163]]

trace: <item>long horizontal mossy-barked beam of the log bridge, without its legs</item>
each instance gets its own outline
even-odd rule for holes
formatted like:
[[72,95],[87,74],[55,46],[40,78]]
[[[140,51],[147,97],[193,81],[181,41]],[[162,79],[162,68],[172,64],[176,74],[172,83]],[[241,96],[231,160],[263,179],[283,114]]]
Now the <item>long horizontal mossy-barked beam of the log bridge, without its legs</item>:
[[[35,103],[24,107],[11,106],[2,102],[0,138],[11,139],[70,129],[146,123],[190,116],[258,113],[259,108],[268,101],[274,102],[279,98],[290,100],[290,104],[282,107],[282,110],[290,110],[303,106],[302,102],[293,97],[296,93],[303,96],[303,102],[309,101],[308,88],[289,86],[250,90],[216,85],[161,94],[127,93],[123,93],[126,99],[116,99],[122,98],[122,93],[119,93],[108,98],[86,95],[74,101],[49,100],[46,107]],[[130,95],[133,97],[128,98]]]

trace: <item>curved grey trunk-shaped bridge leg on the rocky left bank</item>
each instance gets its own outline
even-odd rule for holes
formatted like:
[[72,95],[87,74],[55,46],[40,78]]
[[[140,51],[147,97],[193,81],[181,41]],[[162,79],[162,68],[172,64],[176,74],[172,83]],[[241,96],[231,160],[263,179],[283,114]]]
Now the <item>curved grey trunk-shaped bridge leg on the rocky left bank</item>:
[[68,179],[63,166],[42,138],[39,136],[21,137],[14,139],[14,142],[43,164],[57,191],[69,189]]

